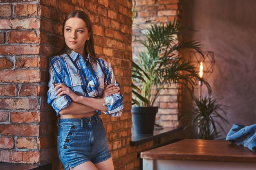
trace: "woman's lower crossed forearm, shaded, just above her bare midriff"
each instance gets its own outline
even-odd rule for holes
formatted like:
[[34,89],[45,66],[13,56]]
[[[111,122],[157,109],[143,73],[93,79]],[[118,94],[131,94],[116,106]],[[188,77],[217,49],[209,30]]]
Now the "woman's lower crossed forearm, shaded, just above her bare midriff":
[[83,114],[83,113],[90,113],[92,111],[95,111],[97,109],[92,108],[90,106],[85,106],[80,103],[72,102],[70,106],[67,106],[66,108],[62,109],[59,113],[61,115],[76,115],[76,114]]

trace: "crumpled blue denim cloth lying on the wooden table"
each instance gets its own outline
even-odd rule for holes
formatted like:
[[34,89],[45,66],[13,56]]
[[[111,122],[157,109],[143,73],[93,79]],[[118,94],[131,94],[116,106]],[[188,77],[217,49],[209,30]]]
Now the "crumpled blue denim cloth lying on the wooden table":
[[226,140],[230,143],[243,145],[250,150],[256,150],[256,124],[245,126],[234,124],[229,130]]

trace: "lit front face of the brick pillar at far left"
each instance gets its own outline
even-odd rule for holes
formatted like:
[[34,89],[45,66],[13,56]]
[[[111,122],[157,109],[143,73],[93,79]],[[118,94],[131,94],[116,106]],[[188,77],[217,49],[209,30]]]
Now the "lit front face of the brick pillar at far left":
[[0,3],[1,162],[44,162],[45,152],[52,151],[53,132],[42,128],[47,121],[43,113],[47,65],[40,55],[38,7],[37,1]]

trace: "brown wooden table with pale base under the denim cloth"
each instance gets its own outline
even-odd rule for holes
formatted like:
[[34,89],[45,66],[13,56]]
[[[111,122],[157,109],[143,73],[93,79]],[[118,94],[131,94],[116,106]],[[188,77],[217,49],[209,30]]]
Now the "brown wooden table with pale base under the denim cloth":
[[256,170],[256,152],[228,141],[184,139],[141,158],[143,170]]

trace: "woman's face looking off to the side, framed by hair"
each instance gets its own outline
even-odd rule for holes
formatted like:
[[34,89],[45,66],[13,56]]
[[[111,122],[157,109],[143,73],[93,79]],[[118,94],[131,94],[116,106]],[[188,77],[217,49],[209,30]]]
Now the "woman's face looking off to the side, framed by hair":
[[90,38],[90,33],[81,18],[70,18],[64,26],[64,39],[67,46],[83,55],[85,41]]

